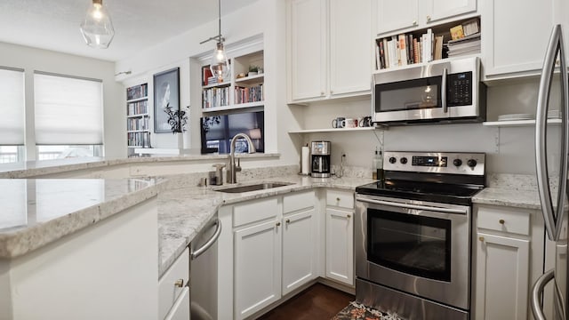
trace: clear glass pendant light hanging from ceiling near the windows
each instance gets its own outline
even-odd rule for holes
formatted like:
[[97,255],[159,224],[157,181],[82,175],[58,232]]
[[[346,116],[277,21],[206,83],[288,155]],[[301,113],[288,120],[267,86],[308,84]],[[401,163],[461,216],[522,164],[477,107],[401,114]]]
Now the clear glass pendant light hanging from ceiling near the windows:
[[92,0],[80,30],[87,45],[93,48],[108,48],[115,36],[115,28],[103,0]]

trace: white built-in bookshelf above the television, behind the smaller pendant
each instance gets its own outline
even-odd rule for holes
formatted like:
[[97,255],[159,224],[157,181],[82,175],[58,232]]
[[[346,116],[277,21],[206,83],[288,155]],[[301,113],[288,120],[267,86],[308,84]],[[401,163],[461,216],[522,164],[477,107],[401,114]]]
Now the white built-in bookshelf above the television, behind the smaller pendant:
[[202,112],[212,113],[264,105],[263,52],[252,52],[229,58],[228,79],[212,76],[209,65],[202,66]]

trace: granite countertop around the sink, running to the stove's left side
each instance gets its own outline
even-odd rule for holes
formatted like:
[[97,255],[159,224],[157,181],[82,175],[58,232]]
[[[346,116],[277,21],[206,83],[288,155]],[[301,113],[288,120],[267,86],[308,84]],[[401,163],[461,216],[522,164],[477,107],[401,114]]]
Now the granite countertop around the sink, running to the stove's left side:
[[[258,180],[260,181],[260,180]],[[291,185],[245,193],[223,193],[212,187],[175,188],[158,195],[158,224],[160,227],[160,265],[162,275],[180,256],[199,230],[218,211],[220,205],[259,199],[268,196],[311,188],[342,188],[354,191],[357,186],[371,183],[365,178],[310,178],[298,175],[263,179],[263,182],[288,182]],[[247,181],[237,185],[254,184]],[[223,186],[221,188],[228,187]]]

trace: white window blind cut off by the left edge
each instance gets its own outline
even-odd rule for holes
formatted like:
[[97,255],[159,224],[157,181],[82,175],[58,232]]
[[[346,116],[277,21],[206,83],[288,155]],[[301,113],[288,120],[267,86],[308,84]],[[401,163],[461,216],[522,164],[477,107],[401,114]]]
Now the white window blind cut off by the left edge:
[[24,144],[24,71],[0,68],[0,145]]

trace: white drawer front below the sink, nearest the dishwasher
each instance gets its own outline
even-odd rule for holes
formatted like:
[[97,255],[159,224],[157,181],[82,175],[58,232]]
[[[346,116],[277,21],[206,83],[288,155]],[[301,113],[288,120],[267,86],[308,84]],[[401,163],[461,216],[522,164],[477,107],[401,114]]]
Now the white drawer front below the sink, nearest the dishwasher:
[[276,197],[236,204],[233,207],[233,227],[276,217],[276,213],[278,213]]

